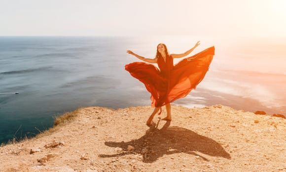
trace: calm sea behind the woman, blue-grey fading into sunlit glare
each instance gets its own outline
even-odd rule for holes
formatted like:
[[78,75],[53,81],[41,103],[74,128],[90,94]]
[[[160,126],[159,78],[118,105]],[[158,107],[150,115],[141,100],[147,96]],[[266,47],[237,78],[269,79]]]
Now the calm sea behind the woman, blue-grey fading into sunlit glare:
[[197,88],[173,104],[286,114],[285,39],[1,36],[0,143],[34,137],[52,127],[56,116],[78,108],[150,105],[150,93],[124,68],[140,60],[126,51],[153,58],[165,43],[169,53],[180,54],[198,40],[189,56],[215,46],[213,62]]

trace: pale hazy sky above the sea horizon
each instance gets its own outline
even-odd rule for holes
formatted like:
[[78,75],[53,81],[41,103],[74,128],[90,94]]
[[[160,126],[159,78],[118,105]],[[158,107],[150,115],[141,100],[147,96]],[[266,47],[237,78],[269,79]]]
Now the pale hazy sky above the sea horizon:
[[0,0],[0,35],[286,37],[286,0]]

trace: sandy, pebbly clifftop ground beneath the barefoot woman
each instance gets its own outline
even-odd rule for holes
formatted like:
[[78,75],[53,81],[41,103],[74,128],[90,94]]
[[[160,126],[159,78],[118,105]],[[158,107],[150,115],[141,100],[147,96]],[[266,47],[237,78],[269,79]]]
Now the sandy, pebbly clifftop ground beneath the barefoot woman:
[[156,115],[149,128],[152,111],[82,108],[48,136],[0,147],[0,172],[286,171],[284,118],[172,106],[172,122]]

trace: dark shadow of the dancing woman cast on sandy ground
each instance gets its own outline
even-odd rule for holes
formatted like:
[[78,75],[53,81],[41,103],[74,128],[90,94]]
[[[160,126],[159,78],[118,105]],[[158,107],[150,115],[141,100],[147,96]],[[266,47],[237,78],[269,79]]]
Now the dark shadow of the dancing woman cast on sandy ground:
[[[213,139],[201,136],[185,128],[170,127],[170,121],[167,121],[161,129],[151,127],[143,137],[137,140],[130,142],[105,142],[105,144],[110,147],[120,147],[123,151],[113,155],[101,154],[99,157],[117,157],[131,153],[142,154],[143,162],[145,163],[152,163],[163,155],[179,152],[200,156],[205,161],[209,160],[195,152],[227,159],[231,158],[223,147]],[[128,151],[128,145],[133,146],[135,149]]]

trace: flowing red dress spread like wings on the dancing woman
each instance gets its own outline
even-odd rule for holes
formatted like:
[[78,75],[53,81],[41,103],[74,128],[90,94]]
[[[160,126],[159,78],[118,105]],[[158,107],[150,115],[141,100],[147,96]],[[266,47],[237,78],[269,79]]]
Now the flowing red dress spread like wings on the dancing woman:
[[214,47],[173,64],[173,57],[166,62],[159,57],[159,69],[150,63],[133,62],[125,70],[141,81],[151,93],[151,106],[161,107],[185,97],[204,79],[214,57]]

